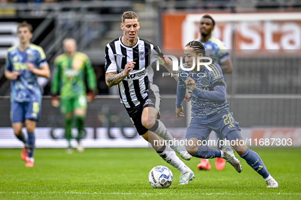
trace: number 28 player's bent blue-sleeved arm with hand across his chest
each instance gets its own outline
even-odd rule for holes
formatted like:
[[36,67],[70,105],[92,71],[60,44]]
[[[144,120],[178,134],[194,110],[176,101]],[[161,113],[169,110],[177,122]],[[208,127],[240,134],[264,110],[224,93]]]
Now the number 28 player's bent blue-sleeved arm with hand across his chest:
[[186,80],[189,89],[191,89],[191,91],[197,96],[212,101],[226,101],[226,86],[224,81],[215,82],[213,84],[213,91],[207,91],[197,88],[195,80],[191,77],[188,77]]

